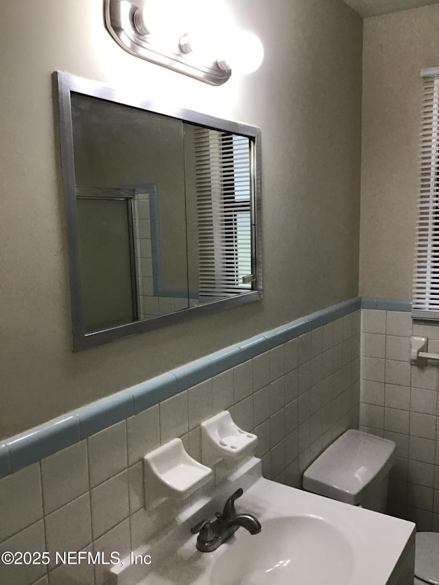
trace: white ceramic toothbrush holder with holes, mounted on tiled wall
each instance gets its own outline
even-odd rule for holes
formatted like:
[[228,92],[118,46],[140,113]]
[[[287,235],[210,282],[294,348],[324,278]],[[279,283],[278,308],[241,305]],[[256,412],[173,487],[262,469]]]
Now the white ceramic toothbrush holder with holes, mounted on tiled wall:
[[257,444],[257,436],[239,429],[226,410],[201,423],[202,462],[209,467],[221,459],[252,455]]

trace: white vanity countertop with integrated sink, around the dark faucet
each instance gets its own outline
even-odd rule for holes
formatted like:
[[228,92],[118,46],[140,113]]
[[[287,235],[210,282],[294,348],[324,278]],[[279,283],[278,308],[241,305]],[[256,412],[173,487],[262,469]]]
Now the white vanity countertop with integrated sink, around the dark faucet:
[[[255,462],[209,503],[177,518],[173,530],[136,551],[151,555],[149,567],[114,569],[110,585],[413,584],[413,523],[263,479]],[[219,501],[239,487],[244,495],[237,513],[256,516],[261,533],[239,528],[213,553],[199,552],[190,527],[213,518]]]

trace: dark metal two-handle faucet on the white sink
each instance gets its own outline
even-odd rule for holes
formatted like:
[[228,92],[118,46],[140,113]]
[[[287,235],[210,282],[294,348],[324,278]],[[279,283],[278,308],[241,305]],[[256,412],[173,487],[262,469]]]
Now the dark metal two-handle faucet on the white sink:
[[242,526],[250,534],[261,532],[261,524],[251,514],[237,514],[235,510],[235,500],[243,494],[241,488],[224,504],[222,513],[216,512],[216,520],[202,520],[193,528],[192,534],[198,533],[197,549],[202,553],[211,553],[220,547],[226,540]]

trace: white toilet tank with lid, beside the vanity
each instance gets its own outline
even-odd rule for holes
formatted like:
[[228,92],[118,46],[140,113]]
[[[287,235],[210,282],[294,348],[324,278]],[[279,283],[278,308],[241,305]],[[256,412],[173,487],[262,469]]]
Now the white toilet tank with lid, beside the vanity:
[[305,471],[302,487],[338,501],[385,512],[395,443],[351,429]]

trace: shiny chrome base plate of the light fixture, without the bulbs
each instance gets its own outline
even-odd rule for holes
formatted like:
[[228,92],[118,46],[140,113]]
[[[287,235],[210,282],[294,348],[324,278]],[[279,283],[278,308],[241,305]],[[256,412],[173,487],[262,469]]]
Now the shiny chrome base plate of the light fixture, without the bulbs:
[[[170,51],[154,43],[149,34],[140,34],[134,23],[145,2],[142,0],[105,0],[105,23],[111,36],[128,53],[178,73],[184,73],[211,85],[222,85],[232,75],[230,69],[221,69],[216,61],[203,63],[201,56],[185,53],[180,39]],[[182,31],[184,34],[185,31]]]

